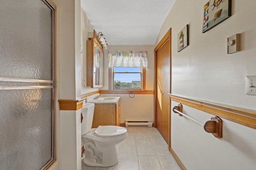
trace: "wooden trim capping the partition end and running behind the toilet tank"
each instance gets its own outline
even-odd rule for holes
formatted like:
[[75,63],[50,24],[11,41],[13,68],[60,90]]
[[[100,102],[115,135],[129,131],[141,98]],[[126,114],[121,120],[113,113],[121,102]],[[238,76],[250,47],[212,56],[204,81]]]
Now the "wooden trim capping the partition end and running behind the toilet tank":
[[60,110],[78,110],[83,107],[83,102],[88,96],[100,93],[100,91],[82,94],[80,99],[59,99]]

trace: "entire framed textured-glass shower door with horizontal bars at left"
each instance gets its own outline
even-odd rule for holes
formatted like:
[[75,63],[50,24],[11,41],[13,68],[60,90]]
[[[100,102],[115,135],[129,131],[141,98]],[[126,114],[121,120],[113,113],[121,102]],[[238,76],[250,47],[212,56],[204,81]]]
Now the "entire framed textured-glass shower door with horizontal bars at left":
[[54,161],[54,8],[45,0],[0,2],[0,169]]

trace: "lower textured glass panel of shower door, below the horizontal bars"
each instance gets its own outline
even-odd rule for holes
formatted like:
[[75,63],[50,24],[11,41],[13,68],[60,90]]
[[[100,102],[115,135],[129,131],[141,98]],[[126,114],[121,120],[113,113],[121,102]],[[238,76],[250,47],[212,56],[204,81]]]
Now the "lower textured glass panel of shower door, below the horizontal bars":
[[0,169],[39,170],[52,157],[52,89],[0,90]]

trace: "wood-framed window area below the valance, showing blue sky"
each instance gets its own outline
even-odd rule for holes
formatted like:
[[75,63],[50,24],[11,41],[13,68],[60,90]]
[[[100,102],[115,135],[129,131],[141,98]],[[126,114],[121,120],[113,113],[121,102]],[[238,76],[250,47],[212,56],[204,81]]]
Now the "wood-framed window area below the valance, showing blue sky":
[[112,90],[145,90],[145,67],[113,67]]

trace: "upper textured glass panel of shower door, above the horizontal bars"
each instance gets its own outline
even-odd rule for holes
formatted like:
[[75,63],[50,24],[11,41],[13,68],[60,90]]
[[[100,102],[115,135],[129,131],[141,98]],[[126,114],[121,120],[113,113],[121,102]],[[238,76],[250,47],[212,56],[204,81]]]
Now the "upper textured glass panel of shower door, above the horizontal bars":
[[1,0],[0,77],[52,80],[52,10],[42,0]]

